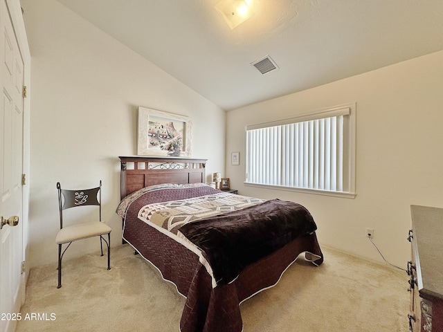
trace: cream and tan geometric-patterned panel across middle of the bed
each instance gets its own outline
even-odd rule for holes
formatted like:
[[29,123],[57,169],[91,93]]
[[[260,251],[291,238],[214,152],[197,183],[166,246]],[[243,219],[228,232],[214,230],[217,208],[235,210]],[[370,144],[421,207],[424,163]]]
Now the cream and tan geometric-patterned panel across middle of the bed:
[[147,204],[138,212],[138,218],[145,222],[150,221],[177,235],[177,230],[186,223],[241,210],[264,201],[264,199],[219,192],[191,199]]

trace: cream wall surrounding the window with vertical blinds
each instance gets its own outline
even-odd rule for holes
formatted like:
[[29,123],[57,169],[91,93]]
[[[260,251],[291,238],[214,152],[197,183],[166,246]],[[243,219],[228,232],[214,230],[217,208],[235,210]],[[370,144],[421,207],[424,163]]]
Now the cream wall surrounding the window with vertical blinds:
[[[272,73],[268,74],[272,75]],[[410,205],[443,207],[443,51],[228,112],[226,176],[239,194],[305,205],[320,243],[406,267]],[[355,199],[246,187],[245,126],[356,102]],[[240,151],[241,164],[230,165]],[[327,257],[325,257],[327,259]]]

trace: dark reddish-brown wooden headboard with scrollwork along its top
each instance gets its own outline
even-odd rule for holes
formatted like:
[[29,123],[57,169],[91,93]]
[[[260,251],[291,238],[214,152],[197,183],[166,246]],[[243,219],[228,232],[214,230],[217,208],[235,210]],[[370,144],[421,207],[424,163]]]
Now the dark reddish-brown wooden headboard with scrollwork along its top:
[[149,185],[205,183],[208,159],[120,156],[120,199]]

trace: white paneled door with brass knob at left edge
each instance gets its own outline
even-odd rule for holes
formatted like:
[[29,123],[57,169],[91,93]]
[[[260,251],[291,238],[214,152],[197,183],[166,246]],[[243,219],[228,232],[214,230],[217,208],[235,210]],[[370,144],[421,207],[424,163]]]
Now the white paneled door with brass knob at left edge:
[[[24,62],[6,0],[0,0],[0,216],[22,216]],[[0,230],[0,332],[14,331],[21,306],[23,223]]]

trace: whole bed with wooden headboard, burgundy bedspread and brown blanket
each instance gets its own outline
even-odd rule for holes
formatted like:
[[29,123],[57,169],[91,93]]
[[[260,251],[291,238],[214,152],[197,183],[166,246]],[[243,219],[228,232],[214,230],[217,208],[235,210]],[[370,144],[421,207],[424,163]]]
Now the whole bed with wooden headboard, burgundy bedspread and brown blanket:
[[[239,304],[275,285],[300,254],[323,262],[302,205],[215,190],[205,184],[206,159],[119,158],[123,241],[186,297],[181,332],[240,332]],[[296,226],[288,222],[293,213],[300,214]],[[268,221],[255,227],[259,215]]]

